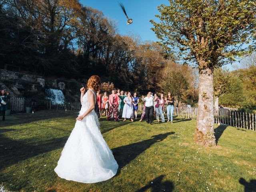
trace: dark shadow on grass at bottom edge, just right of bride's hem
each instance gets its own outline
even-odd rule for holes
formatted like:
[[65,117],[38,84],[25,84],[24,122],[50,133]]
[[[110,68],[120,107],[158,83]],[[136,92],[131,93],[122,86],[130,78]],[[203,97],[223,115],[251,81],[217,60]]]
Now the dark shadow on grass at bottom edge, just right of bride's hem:
[[136,192],[144,192],[148,189],[152,189],[152,192],[160,192],[160,191],[166,191],[171,192],[174,189],[174,186],[171,181],[165,181],[163,182],[164,175],[160,175],[154,180],[150,181],[148,185],[142,187],[140,190]]

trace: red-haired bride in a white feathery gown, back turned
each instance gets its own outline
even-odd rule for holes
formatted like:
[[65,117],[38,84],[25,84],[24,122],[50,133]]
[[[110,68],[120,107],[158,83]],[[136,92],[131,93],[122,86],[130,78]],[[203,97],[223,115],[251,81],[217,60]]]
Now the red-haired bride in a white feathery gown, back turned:
[[100,133],[100,123],[94,111],[100,78],[93,75],[87,92],[81,88],[82,108],[54,171],[59,177],[82,183],[95,183],[112,178],[118,164]]

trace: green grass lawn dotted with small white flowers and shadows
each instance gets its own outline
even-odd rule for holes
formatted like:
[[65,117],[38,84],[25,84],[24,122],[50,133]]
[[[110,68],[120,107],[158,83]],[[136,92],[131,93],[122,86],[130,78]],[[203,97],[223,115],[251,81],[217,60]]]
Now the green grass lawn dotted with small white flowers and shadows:
[[114,178],[83,184],[54,168],[76,112],[8,116],[0,125],[0,184],[25,192],[190,192],[256,190],[256,132],[216,125],[217,147],[194,144],[196,121],[108,122],[101,132],[119,164]]

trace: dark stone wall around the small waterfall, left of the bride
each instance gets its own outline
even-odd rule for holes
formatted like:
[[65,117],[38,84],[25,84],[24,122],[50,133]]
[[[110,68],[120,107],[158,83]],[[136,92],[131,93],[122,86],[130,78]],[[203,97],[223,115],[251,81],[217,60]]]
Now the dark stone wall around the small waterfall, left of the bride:
[[68,100],[80,98],[82,83],[60,78],[47,79],[42,76],[12,72],[0,69],[0,89],[10,92],[14,97],[44,98],[47,88],[60,89]]

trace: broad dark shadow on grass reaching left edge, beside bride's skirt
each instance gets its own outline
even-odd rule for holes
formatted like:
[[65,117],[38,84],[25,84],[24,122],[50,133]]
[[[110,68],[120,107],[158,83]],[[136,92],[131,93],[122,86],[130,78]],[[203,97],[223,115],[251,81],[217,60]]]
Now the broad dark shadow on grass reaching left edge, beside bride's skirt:
[[[17,141],[0,135],[0,170],[19,161],[62,148],[68,137],[44,141],[24,140]],[[28,144],[27,142],[32,142]]]

